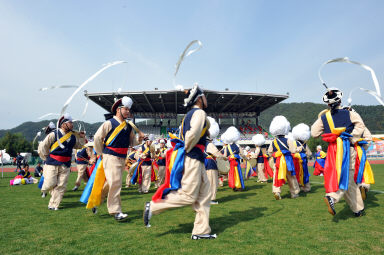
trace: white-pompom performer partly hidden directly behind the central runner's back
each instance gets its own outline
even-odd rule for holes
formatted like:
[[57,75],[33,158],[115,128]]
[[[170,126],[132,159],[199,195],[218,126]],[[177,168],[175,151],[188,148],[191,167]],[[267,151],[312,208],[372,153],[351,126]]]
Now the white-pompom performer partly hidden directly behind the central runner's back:
[[217,158],[227,159],[223,154],[217,149],[213,144],[213,139],[217,137],[220,132],[219,124],[215,121],[214,118],[208,117],[210,128],[209,128],[209,137],[207,137],[207,142],[205,146],[205,169],[207,170],[208,180],[211,186],[211,205],[218,204],[216,201],[216,193],[219,185],[219,169],[217,167]]

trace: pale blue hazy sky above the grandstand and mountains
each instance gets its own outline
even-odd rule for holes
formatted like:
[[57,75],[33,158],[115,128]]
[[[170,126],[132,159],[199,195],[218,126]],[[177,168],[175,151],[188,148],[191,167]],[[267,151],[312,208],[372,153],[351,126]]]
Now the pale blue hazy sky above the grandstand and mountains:
[[[177,83],[210,90],[286,94],[284,102],[322,103],[318,69],[337,57],[372,67],[384,80],[384,1],[128,1],[0,0],[0,129],[58,113],[74,89],[103,64],[111,67],[88,92],[174,89],[178,57],[192,40],[200,51],[185,58]],[[346,95],[374,90],[369,72],[334,63],[322,72]],[[384,93],[384,92],[383,92]],[[377,105],[354,93],[353,104]],[[81,118],[81,91],[68,107]],[[83,120],[103,121],[90,102]]]

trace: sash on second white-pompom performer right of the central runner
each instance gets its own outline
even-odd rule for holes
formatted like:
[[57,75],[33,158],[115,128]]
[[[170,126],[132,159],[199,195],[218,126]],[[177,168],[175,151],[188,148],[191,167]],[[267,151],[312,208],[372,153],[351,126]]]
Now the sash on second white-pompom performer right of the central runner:
[[227,149],[231,154],[229,159],[230,169],[228,172],[228,186],[232,189],[244,189],[243,172],[241,170],[240,156],[234,154],[231,146],[228,144]]

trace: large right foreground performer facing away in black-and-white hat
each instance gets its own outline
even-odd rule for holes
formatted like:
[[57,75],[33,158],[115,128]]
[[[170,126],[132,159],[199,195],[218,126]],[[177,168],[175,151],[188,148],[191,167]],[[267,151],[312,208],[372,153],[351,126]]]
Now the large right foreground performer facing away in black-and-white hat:
[[365,125],[358,113],[341,108],[342,95],[337,88],[328,89],[323,101],[329,109],[319,114],[311,134],[315,138],[322,134],[329,144],[324,166],[324,200],[328,212],[335,215],[335,203],[345,195],[345,201],[358,217],[363,215],[364,203],[353,179],[356,152],[352,146],[362,136]]

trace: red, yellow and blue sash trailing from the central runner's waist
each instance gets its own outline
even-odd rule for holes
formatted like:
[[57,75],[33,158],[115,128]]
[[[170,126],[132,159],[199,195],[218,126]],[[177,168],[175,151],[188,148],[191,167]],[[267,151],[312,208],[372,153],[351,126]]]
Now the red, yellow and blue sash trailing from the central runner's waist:
[[164,199],[173,190],[181,188],[181,179],[184,171],[185,148],[184,141],[170,134],[172,147],[167,151],[165,164],[165,180],[152,197],[153,202]]

